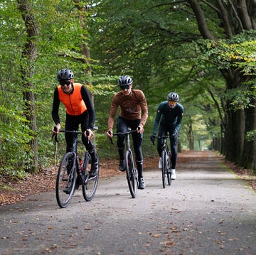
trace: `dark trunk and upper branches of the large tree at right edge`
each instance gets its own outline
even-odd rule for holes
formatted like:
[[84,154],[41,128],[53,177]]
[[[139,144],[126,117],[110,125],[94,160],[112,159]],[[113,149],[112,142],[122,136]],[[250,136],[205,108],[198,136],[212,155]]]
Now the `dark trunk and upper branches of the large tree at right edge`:
[[[218,48],[218,50],[223,50],[225,47],[225,45],[223,45],[224,43],[218,43],[217,41],[220,36],[213,36],[213,34],[210,33],[210,29],[205,18],[206,11],[203,11],[201,5],[196,0],[190,0],[188,3],[191,5],[191,9],[193,9],[193,13],[195,14],[201,36],[204,39],[213,40],[213,44],[215,44],[213,47]],[[223,27],[223,36],[230,39],[230,42],[225,40],[225,43],[229,43],[228,47],[230,48],[232,47],[235,35],[239,35],[246,30],[250,31],[255,29],[255,16],[253,13],[250,13],[249,9],[249,6],[252,6],[252,9],[256,8],[256,3],[254,1],[239,0],[233,1],[233,3],[228,1],[228,4],[225,4],[224,1],[216,1],[215,6],[213,4],[209,4],[207,1],[203,1],[203,3],[205,8],[209,6],[210,11],[213,10],[218,14],[219,19],[223,24],[223,26],[220,26]],[[252,36],[250,36],[250,34],[242,34],[242,36],[238,36],[240,42],[253,41],[253,38],[255,38],[254,33],[252,33]],[[248,77],[243,68],[238,69],[237,66],[233,64],[234,60],[232,59],[231,54],[228,56],[225,55],[224,58],[221,58],[220,56],[220,54],[216,55],[218,60],[215,61],[214,65],[219,66],[219,70],[225,78],[227,92],[232,89],[239,90],[239,88],[245,83],[245,77],[247,77],[247,79],[255,80],[255,75]],[[225,57],[228,57],[228,60]],[[245,60],[245,58],[243,58],[243,60]],[[224,62],[225,64],[223,65],[221,62]],[[237,63],[236,60],[234,62]],[[245,60],[245,62],[247,61]],[[253,72],[253,69],[250,69],[250,72]],[[251,158],[250,161],[247,160],[245,164],[245,161],[243,160],[243,151],[247,151],[247,147],[250,147],[251,151],[255,151],[252,147],[253,144],[248,143],[245,140],[245,126],[250,126],[252,128],[253,126],[254,128],[256,127],[255,125],[247,124],[247,122],[255,123],[256,121],[254,114],[256,111],[255,104],[252,104],[255,102],[255,95],[250,97],[250,105],[247,106],[250,109],[248,113],[250,116],[247,117],[247,119],[245,119],[244,109],[233,108],[234,99],[235,97],[231,97],[230,99],[225,100],[225,155],[230,161],[240,164],[243,163],[245,168],[252,168],[252,164],[256,161],[255,156],[254,158]]]

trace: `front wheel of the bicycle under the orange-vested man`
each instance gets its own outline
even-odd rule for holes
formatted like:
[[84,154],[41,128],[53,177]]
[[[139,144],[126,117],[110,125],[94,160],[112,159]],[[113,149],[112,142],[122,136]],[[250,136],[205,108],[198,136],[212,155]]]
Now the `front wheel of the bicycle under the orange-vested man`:
[[67,207],[75,192],[75,157],[71,152],[66,153],[60,162],[56,179],[56,199],[61,208]]

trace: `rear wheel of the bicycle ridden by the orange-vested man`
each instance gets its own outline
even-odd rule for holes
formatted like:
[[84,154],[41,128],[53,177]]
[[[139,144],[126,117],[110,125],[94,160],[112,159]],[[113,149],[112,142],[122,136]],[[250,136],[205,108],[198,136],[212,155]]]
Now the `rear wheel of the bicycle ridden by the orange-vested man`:
[[96,176],[90,178],[90,168],[91,168],[91,158],[90,154],[85,152],[85,160],[83,163],[83,176],[85,178],[85,185],[82,185],[82,195],[86,201],[92,200],[97,190],[97,184],[99,182],[99,173],[100,173],[100,165],[99,170]]

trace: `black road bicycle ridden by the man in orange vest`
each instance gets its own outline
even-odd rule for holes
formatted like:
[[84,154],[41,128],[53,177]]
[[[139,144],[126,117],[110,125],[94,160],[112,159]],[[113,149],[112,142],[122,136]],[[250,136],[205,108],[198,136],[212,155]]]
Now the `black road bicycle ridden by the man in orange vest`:
[[[97,130],[97,127],[94,127],[93,130]],[[82,195],[85,200],[92,200],[97,190],[100,168],[98,168],[97,175],[90,177],[91,157],[87,151],[85,151],[82,163],[82,158],[78,155],[78,143],[81,143],[78,141],[78,134],[83,134],[82,132],[60,130],[60,133],[73,134],[72,151],[65,153],[60,161],[55,186],[58,205],[65,208],[69,205],[75,189],[78,189],[79,185],[82,185]],[[57,134],[53,134],[53,136],[58,142]]]

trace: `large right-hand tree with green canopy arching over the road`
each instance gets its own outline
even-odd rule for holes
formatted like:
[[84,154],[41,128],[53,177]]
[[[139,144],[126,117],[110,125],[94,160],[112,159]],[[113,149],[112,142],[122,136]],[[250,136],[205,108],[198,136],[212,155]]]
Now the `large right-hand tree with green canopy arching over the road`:
[[[252,131],[251,123],[255,123],[255,94],[245,85],[245,81],[255,80],[255,58],[250,58],[250,45],[255,48],[255,1],[102,1],[98,18],[102,22],[95,29],[92,52],[110,73],[129,72],[137,77],[146,96],[152,97],[149,103],[170,89],[184,92],[183,98],[186,94],[204,94],[209,77],[218,77],[222,88],[212,91],[216,92],[214,98],[219,97],[215,102],[221,102],[218,106],[223,112],[220,148],[228,160],[245,162],[243,151],[248,151],[248,146],[255,151],[255,143],[245,140],[245,126]],[[242,53],[236,52],[239,61],[233,58],[235,45],[243,48]],[[190,86],[198,77],[205,84],[201,82],[194,92]],[[233,92],[242,94],[244,89],[251,91],[246,93],[249,112],[234,108]],[[187,101],[191,102],[189,97]],[[245,118],[245,112],[250,117]],[[252,167],[255,156],[246,162],[243,166]]]

